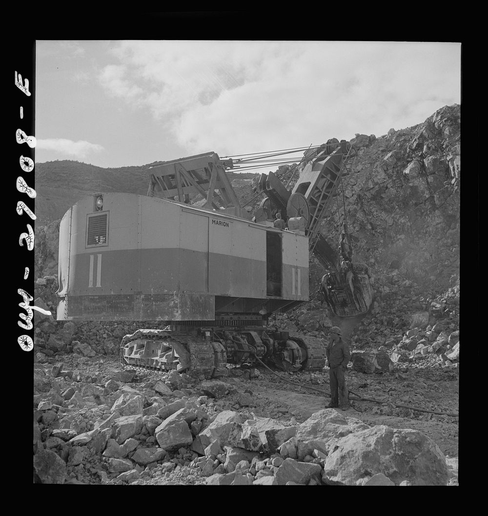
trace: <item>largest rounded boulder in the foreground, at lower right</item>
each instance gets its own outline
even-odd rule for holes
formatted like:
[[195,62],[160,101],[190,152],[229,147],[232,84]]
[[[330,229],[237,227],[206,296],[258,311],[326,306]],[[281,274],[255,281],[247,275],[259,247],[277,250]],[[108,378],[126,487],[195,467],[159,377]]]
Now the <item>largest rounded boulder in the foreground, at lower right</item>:
[[383,473],[395,485],[445,486],[449,480],[440,448],[418,430],[373,426],[335,442],[324,464],[324,477],[346,486]]

